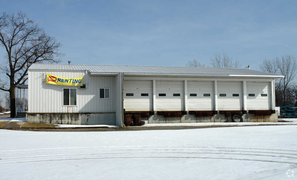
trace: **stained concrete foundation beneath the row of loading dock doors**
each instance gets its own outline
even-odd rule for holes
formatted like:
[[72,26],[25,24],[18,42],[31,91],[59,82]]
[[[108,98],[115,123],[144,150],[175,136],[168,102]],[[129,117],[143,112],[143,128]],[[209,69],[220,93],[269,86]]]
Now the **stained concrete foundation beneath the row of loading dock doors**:
[[[243,122],[278,122],[277,112],[270,116],[258,116],[254,114],[243,114]],[[141,121],[152,123],[191,123],[191,122],[232,122],[231,117],[225,114],[214,114],[209,117],[196,117],[195,114],[183,115],[182,117],[164,117],[163,115],[150,115],[149,118],[141,118]]]

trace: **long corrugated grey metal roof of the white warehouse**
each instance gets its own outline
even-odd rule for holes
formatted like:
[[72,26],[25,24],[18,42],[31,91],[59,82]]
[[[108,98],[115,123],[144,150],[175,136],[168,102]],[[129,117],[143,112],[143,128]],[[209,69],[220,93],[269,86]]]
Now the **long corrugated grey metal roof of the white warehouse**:
[[[255,76],[281,76],[252,69],[242,68],[210,68],[210,67],[170,67],[170,66],[111,66],[111,65],[63,65],[63,64],[32,64],[29,70],[64,70],[84,71],[91,73],[143,73],[160,75],[255,75]],[[141,75],[138,75],[141,76]]]

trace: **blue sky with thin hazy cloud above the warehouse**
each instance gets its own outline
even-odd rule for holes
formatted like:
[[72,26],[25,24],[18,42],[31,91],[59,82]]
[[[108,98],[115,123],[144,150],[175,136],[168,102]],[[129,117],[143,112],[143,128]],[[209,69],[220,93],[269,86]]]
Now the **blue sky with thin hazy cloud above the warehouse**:
[[[297,57],[297,1],[14,1],[63,43],[63,64],[208,65],[223,51],[242,67]],[[3,49],[0,48],[0,61]],[[4,61],[5,59],[2,58]]]

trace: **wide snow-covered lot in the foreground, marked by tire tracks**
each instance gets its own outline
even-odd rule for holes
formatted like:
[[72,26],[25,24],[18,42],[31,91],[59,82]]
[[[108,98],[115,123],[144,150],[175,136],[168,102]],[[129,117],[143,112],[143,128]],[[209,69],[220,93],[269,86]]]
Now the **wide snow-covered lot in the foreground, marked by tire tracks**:
[[297,178],[297,125],[183,130],[0,129],[1,179]]

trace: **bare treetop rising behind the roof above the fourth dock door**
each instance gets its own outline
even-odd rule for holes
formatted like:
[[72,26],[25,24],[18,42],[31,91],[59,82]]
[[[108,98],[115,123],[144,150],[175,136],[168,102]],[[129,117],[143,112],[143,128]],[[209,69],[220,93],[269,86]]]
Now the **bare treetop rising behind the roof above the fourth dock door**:
[[214,54],[214,57],[210,59],[210,64],[213,67],[220,67],[220,68],[240,68],[241,64],[239,64],[239,61],[233,61],[232,57],[229,57],[224,51],[223,54],[216,53]]

